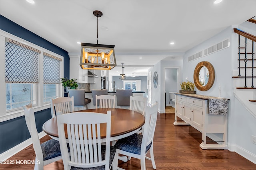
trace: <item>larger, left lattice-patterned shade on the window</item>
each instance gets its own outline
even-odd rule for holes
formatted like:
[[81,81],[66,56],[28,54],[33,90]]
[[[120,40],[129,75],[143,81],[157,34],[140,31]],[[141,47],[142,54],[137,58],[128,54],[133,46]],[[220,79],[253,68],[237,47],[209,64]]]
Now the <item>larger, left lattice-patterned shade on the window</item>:
[[6,83],[38,83],[38,57],[40,50],[6,38]]

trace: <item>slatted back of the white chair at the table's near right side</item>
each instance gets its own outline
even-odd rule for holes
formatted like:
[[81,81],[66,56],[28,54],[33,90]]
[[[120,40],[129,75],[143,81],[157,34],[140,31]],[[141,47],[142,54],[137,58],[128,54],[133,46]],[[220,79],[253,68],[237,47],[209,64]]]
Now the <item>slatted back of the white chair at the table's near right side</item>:
[[[146,106],[145,110],[145,124],[144,129],[142,131],[142,143],[140,153],[146,152],[146,146],[148,146],[151,142],[153,145],[154,133],[156,129],[156,119],[158,111],[158,102],[156,102],[151,107]],[[146,154],[145,154],[146,155]]]

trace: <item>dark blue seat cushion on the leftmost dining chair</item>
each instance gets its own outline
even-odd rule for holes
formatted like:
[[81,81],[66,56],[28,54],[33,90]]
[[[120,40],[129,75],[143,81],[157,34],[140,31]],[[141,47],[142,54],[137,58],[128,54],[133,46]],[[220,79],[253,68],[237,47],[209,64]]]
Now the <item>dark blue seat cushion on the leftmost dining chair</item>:
[[61,155],[60,143],[54,139],[50,139],[41,144],[44,160],[55,158]]

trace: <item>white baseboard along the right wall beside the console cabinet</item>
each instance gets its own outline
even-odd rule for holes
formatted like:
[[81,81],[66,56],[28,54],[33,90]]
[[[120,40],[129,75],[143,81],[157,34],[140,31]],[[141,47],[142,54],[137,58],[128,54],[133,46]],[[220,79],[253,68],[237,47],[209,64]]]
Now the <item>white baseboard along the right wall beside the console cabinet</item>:
[[246,158],[247,160],[250,160],[252,163],[256,164],[256,155],[249,152],[248,150],[244,150],[243,148],[237,146],[237,145],[230,145],[228,144],[228,150],[231,152],[236,152]]

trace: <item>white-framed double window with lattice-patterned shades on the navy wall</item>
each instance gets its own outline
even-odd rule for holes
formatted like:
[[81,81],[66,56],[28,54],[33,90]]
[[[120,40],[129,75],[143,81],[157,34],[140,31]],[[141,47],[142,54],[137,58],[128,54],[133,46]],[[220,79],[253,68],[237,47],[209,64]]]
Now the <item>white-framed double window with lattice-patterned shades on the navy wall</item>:
[[0,122],[23,115],[32,103],[35,111],[50,108],[50,99],[62,97],[63,57],[0,30]]

